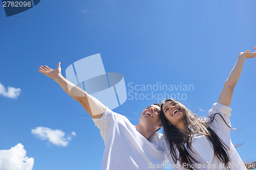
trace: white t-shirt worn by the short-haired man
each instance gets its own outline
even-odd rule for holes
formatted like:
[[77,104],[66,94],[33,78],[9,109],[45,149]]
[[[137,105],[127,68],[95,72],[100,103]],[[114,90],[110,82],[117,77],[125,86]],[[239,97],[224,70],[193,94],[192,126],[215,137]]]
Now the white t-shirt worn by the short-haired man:
[[[125,116],[106,107],[102,117],[93,121],[105,143],[102,170],[164,169],[164,152],[155,148]],[[151,139],[156,141],[160,135],[156,132]]]

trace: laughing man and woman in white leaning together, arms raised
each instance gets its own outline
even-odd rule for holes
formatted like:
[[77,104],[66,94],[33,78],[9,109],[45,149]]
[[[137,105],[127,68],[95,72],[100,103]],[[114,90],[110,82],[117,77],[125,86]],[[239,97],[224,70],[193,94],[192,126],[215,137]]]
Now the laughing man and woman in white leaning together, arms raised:
[[[169,99],[146,107],[137,126],[63,78],[60,63],[56,69],[40,66],[39,71],[91,115],[105,143],[102,169],[163,169],[167,161],[173,169],[247,169],[230,140],[229,105],[245,59],[255,56],[249,50],[239,54],[218,102],[204,120]],[[157,132],[162,126],[164,135]]]

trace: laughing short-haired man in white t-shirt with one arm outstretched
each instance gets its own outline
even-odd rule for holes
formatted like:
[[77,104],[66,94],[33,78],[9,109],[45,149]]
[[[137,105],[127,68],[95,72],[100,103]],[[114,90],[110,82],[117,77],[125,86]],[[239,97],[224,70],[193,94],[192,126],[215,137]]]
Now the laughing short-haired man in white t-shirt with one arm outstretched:
[[167,162],[166,157],[153,145],[162,135],[156,132],[162,127],[160,107],[157,104],[143,110],[135,127],[125,116],[113,112],[86,91],[65,79],[61,75],[60,63],[56,69],[40,66],[39,71],[55,80],[79,102],[100,129],[105,143],[101,169],[163,169],[161,165]]

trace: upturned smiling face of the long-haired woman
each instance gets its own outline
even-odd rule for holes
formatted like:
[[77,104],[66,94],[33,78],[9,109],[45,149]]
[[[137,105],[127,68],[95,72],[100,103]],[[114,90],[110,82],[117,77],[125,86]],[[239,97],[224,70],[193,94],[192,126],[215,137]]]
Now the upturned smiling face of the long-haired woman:
[[165,118],[170,124],[177,126],[178,124],[183,122],[184,114],[182,113],[180,106],[178,106],[173,101],[165,102],[162,106],[162,109]]

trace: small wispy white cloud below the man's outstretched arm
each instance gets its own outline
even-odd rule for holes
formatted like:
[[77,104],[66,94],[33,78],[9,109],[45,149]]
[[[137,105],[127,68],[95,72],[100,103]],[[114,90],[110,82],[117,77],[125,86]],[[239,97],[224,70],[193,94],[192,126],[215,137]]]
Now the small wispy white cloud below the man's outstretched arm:
[[46,127],[37,127],[32,129],[31,133],[41,140],[48,140],[58,147],[66,147],[69,144],[71,137],[76,136],[75,132],[65,136],[65,132],[62,132],[61,130],[52,130]]

